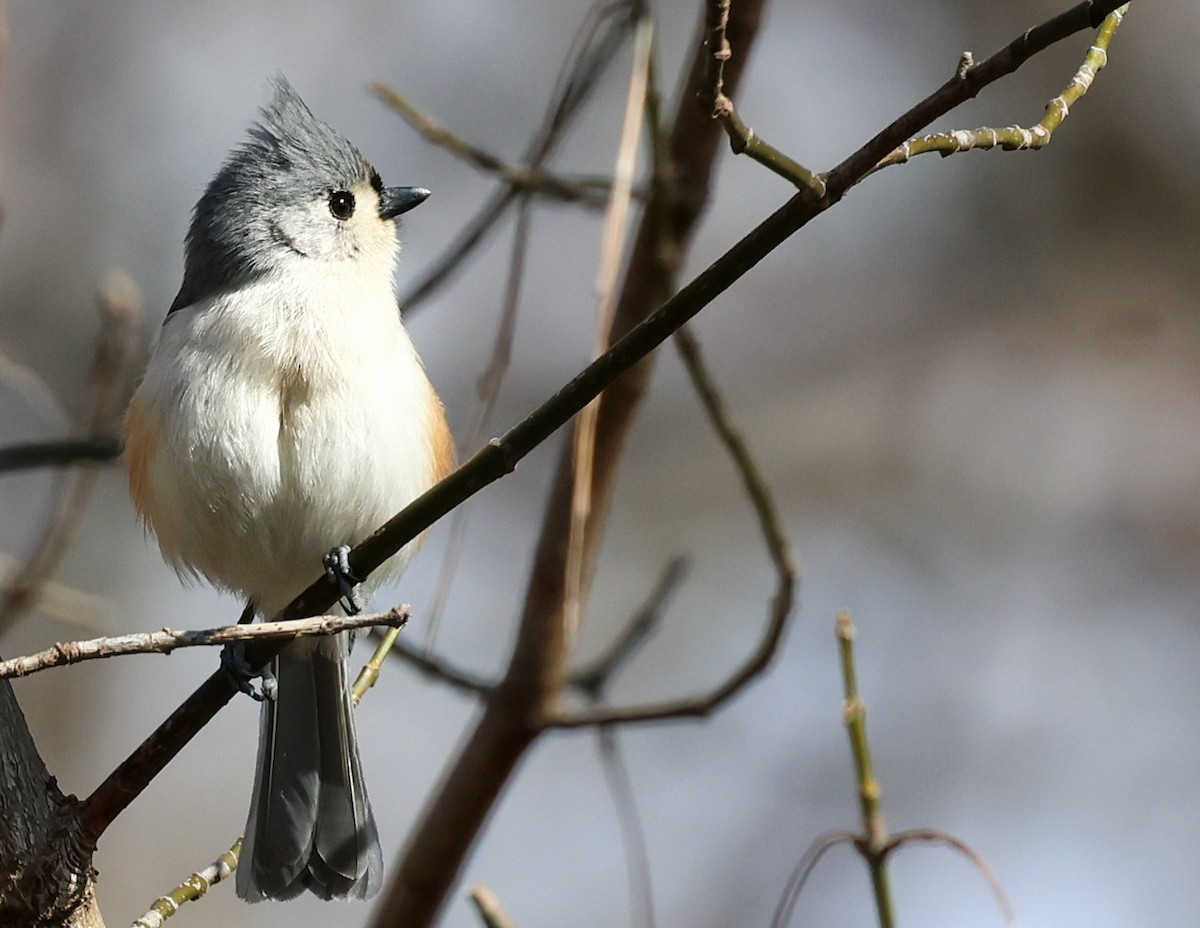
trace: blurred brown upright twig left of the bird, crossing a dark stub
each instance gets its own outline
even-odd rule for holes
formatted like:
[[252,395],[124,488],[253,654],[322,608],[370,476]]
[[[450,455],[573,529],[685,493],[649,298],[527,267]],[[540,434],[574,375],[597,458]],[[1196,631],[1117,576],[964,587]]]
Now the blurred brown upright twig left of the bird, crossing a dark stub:
[[[116,433],[145,354],[142,294],[128,275],[114,273],[102,282],[98,310],[101,331],[88,382],[88,402],[77,420],[77,432],[88,439]],[[10,627],[36,601],[38,589],[58,569],[86,511],[95,483],[92,468],[76,467],[61,474],[54,510],[42,537],[0,598],[0,629]]]

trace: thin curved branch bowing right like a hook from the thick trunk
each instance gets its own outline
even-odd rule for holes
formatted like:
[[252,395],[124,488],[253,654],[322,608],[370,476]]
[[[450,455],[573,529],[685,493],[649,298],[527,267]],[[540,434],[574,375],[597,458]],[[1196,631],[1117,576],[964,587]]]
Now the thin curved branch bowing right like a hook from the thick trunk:
[[758,467],[737,426],[730,419],[725,403],[716,391],[708,369],[700,353],[700,345],[690,329],[676,333],[676,347],[684,361],[692,385],[700,395],[709,421],[726,451],[733,459],[743,489],[750,498],[758,528],[767,545],[768,555],[775,568],[776,586],[772,599],[770,613],[762,639],[754,653],[737,667],[720,685],[709,693],[690,699],[670,700],[648,706],[601,707],[564,713],[547,720],[554,728],[581,728],[588,725],[612,725],[632,722],[664,722],[677,718],[701,718],[710,714],[736,696],[742,689],[762,673],[779,648],[787,617],[792,611],[796,588],[796,562],[791,545],[784,534],[779,510],[770,497],[770,491],[758,472]]

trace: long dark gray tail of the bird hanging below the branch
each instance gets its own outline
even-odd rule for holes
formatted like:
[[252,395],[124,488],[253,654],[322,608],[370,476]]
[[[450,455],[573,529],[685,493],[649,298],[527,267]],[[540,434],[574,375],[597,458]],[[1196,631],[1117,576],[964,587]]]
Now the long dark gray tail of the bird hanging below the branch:
[[238,896],[370,899],[383,852],[362,783],[347,683],[349,636],[293,642],[275,660],[277,698],[263,704],[254,792]]

